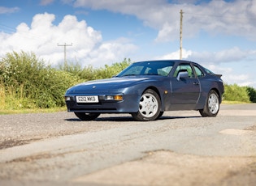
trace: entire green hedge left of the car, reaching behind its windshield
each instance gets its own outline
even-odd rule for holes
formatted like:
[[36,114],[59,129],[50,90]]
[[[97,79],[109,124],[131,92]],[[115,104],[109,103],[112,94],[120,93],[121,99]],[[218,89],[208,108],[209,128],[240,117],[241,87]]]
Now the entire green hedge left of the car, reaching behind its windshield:
[[46,66],[34,53],[7,53],[0,61],[0,109],[54,108],[65,105],[63,95],[72,85],[110,78],[131,64],[124,59],[105,68],[82,68],[78,63]]

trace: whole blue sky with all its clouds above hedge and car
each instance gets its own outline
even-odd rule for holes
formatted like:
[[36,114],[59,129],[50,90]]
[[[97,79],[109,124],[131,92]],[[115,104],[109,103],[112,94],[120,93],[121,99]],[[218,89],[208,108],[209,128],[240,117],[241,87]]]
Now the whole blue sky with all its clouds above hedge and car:
[[223,81],[256,88],[256,0],[2,0],[0,57],[33,52],[46,63],[101,67],[180,57]]

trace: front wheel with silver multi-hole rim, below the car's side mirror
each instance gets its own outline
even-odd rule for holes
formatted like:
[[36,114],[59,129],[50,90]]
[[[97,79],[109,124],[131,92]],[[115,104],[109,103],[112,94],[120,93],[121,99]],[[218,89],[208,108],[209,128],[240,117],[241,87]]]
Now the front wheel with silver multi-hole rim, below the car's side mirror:
[[139,111],[132,113],[135,120],[156,120],[160,114],[160,98],[152,89],[146,90],[140,99]]

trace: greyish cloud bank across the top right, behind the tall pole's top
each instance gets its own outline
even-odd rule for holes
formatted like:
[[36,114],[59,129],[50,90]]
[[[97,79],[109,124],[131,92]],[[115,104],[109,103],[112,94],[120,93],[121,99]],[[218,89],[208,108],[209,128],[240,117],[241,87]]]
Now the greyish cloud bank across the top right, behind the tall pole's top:
[[121,14],[136,15],[146,26],[158,30],[156,41],[176,40],[180,32],[180,10],[184,11],[184,37],[195,36],[200,30],[211,34],[246,36],[255,40],[256,1],[210,1],[192,4],[192,1],[155,0],[76,0],[76,7],[91,7]]

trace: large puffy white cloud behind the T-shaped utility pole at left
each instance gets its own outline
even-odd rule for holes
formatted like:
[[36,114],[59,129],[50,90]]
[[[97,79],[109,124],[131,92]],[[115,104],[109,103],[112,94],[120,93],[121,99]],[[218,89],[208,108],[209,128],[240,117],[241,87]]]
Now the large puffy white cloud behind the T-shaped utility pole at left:
[[67,61],[79,61],[84,64],[104,66],[123,61],[137,49],[129,40],[120,38],[102,42],[101,32],[89,27],[85,20],[78,21],[76,16],[66,15],[54,25],[55,16],[38,14],[33,17],[31,27],[20,23],[11,34],[0,32],[0,57],[12,51],[33,52],[52,65],[63,61],[63,46],[67,46]]

